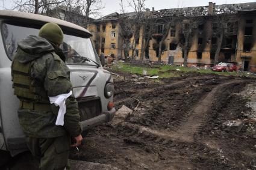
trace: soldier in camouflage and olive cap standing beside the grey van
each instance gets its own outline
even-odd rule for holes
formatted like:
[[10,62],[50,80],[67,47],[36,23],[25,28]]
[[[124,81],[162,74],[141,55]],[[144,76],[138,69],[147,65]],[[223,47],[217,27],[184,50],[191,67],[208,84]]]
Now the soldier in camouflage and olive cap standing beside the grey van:
[[78,104],[73,95],[66,99],[64,125],[55,124],[59,107],[49,97],[72,90],[69,68],[59,48],[63,32],[55,23],[46,23],[39,37],[30,35],[18,43],[11,65],[14,94],[20,100],[20,125],[31,153],[40,159],[39,169],[68,166],[70,136],[76,147],[83,139]]

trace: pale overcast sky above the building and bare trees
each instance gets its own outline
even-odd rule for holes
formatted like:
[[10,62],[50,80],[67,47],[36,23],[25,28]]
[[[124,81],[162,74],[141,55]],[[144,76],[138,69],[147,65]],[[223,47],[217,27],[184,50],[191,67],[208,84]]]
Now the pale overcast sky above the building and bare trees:
[[[0,6],[4,4],[5,7],[10,8],[11,0],[0,0]],[[125,0],[123,0],[125,2]],[[120,0],[102,0],[105,8],[101,11],[102,16],[110,14],[110,13],[120,13]],[[161,10],[164,8],[176,8],[176,7],[196,7],[196,6],[204,6],[208,5],[208,0],[146,0],[146,8],[152,7],[155,10]],[[219,4],[237,4],[237,3],[245,3],[245,2],[256,2],[256,0],[215,0],[217,5]],[[0,7],[1,9],[1,7]],[[126,12],[131,11],[132,9],[127,9]]]

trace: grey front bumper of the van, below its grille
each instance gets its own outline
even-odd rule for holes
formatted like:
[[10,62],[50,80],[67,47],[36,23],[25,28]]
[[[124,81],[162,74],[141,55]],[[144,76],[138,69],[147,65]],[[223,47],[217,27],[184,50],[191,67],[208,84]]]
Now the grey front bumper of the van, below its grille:
[[81,125],[82,131],[98,126],[99,124],[107,123],[111,121],[115,113],[116,113],[116,109],[113,108],[110,111],[101,113],[97,117],[90,118],[89,120],[81,121],[80,125]]

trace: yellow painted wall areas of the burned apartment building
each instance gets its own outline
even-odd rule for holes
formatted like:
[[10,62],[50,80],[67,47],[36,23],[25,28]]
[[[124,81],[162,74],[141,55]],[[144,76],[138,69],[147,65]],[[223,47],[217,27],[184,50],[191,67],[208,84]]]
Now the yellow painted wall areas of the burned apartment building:
[[[254,19],[254,17],[251,17],[252,19]],[[239,62],[239,65],[243,64],[243,61],[245,59],[241,59],[241,56],[251,56],[250,59],[250,66],[251,66],[251,70],[252,71],[256,71],[256,43],[252,43],[252,49],[251,52],[243,52],[243,40],[244,40],[244,29],[245,29],[245,20],[246,17],[242,17],[240,19],[240,25],[239,25],[239,35],[238,35],[238,40],[237,40],[237,52],[236,54],[233,54],[231,56],[231,61],[237,61]],[[186,22],[186,21],[183,21]],[[176,50],[170,50],[170,43],[178,43],[179,40],[179,31],[181,29],[181,24],[179,24],[180,22],[177,22],[175,25],[175,29],[176,29],[176,35],[175,37],[171,37],[170,36],[170,30],[168,31],[168,35],[166,40],[164,40],[164,44],[166,46],[166,50],[164,50],[161,54],[161,60],[164,62],[168,62],[168,58],[169,56],[174,56],[174,64],[182,64],[184,62],[183,59],[183,52],[181,47],[177,46]],[[253,31],[253,36],[252,36],[252,41],[256,40],[256,19],[254,19],[254,31]],[[96,30],[96,23],[94,24],[90,24],[87,29],[89,29],[90,32],[92,32],[93,37],[92,40],[95,40],[96,37],[100,38],[100,43],[99,43],[99,53],[101,52],[101,38],[105,38],[105,44],[104,44],[104,55],[108,56],[111,55],[111,53],[114,54],[114,56],[122,56],[122,58],[124,58],[124,54],[123,54],[123,50],[122,50],[122,40],[120,38],[119,35],[119,24],[114,23],[114,25],[116,25],[116,28],[113,29],[112,25],[113,23],[111,22],[104,22],[104,23],[97,23],[100,25],[100,32],[97,32]],[[106,26],[106,30],[105,32],[102,32],[102,26],[105,25]],[[172,28],[171,28],[172,29]],[[111,31],[115,31],[116,32],[116,37],[111,37]],[[140,28],[140,38],[139,38],[139,44],[136,45],[136,49],[139,50],[139,55],[136,56],[136,59],[140,58],[140,50],[141,50],[141,46],[142,46],[142,34],[143,34],[143,28]],[[197,52],[199,50],[199,45],[198,45],[198,38],[202,37],[203,38],[203,44],[201,45],[203,48],[201,50],[202,52],[202,59],[198,59],[197,58]],[[211,38],[212,37],[217,37],[216,35],[213,34],[212,31],[212,21],[211,20],[205,20],[204,22],[204,29],[203,31],[199,31],[196,30],[193,34],[193,42],[192,42],[192,46],[189,49],[188,52],[188,65],[212,65],[214,59],[210,59],[210,54],[211,52],[214,52],[211,50],[211,48],[214,46],[211,44]],[[224,37],[225,38],[225,37]],[[133,37],[131,38],[131,43],[133,42]],[[217,40],[218,41],[218,40]],[[113,49],[111,48],[111,43],[115,43],[116,44],[116,48]],[[156,56],[156,52],[153,49],[153,44],[157,43],[157,40],[155,40],[154,38],[152,38],[149,41],[149,59],[151,59],[152,61],[158,61],[158,58]],[[215,45],[216,46],[216,45]],[[122,52],[122,54],[121,54]],[[135,53],[135,51],[134,51]],[[132,55],[132,50],[129,51],[129,55]],[[220,52],[219,55],[219,59],[220,61],[225,58],[224,54],[222,52]]]

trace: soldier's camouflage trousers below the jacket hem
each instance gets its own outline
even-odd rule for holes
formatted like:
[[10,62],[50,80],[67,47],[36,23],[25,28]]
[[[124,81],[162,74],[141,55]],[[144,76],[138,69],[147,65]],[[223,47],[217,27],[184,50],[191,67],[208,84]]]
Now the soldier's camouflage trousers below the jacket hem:
[[57,138],[27,137],[26,141],[33,156],[40,160],[39,169],[69,169],[69,135]]

